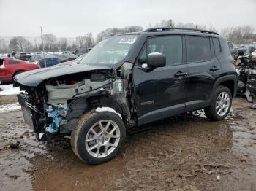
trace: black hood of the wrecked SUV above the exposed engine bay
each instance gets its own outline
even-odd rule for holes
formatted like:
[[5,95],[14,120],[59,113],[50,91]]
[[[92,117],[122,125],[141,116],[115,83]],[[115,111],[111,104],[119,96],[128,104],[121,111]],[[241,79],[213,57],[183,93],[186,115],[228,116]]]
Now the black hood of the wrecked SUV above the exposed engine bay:
[[68,74],[80,73],[83,71],[112,69],[111,66],[89,66],[84,64],[63,65],[26,71],[15,76],[15,82],[21,85],[37,87],[45,79],[61,77]]

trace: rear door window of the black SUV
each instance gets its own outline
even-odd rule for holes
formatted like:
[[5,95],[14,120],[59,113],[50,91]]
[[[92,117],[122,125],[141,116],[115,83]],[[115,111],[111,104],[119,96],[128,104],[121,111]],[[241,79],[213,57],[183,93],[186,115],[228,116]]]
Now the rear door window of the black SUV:
[[211,45],[208,37],[187,36],[187,62],[202,62],[211,59]]

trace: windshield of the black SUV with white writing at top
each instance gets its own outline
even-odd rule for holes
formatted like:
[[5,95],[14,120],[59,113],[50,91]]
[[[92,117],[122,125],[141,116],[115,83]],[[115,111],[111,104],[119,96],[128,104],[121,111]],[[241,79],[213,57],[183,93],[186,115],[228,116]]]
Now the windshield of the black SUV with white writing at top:
[[138,39],[138,35],[113,36],[99,42],[80,64],[86,65],[113,65],[123,60],[132,44]]

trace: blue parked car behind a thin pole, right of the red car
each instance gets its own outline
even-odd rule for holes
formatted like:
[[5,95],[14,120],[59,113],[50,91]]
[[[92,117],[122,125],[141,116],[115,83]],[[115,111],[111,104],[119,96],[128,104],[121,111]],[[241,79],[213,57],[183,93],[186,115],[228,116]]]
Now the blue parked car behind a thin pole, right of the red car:
[[60,63],[60,60],[56,55],[45,55],[44,60],[44,56],[42,54],[31,55],[29,61],[32,63],[38,63],[41,68],[45,68],[45,61],[46,67],[54,66]]

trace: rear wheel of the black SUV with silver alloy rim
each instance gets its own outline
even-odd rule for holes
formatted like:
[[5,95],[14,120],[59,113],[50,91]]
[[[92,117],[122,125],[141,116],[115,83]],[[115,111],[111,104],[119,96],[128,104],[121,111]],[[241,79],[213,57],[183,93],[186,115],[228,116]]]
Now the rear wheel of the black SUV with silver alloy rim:
[[214,93],[211,105],[205,108],[204,111],[210,120],[223,120],[230,112],[231,104],[232,95],[230,90],[227,87],[220,85]]

